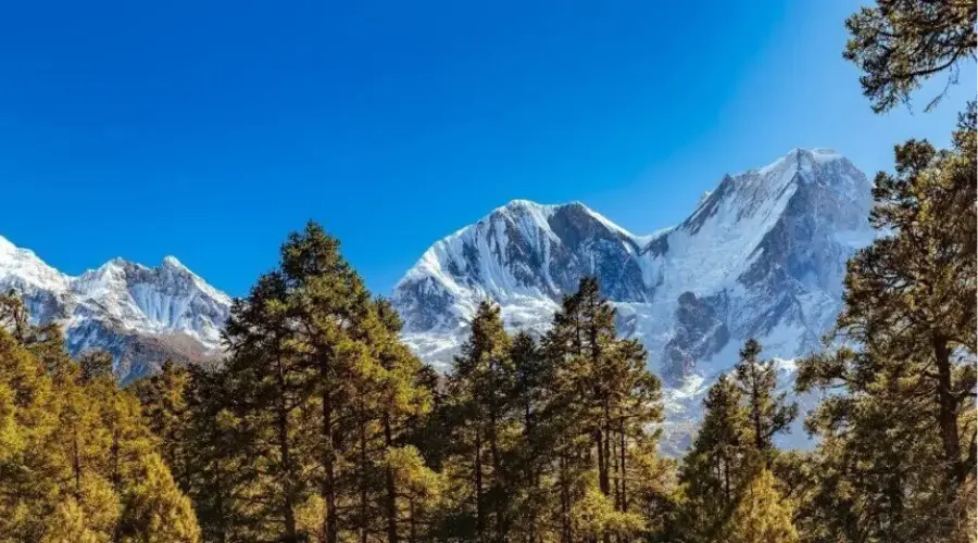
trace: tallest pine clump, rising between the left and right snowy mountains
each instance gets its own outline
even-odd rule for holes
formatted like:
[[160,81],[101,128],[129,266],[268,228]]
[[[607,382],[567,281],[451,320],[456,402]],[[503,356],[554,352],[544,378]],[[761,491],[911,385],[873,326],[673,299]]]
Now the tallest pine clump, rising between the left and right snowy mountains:
[[399,342],[393,310],[371,299],[322,227],[290,235],[280,254],[227,326],[222,397],[247,444],[231,464],[269,466],[238,492],[254,507],[235,510],[274,519],[258,531],[285,541],[397,541],[400,491],[385,457],[429,408],[422,365]]

